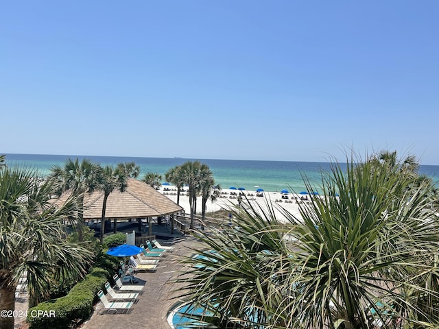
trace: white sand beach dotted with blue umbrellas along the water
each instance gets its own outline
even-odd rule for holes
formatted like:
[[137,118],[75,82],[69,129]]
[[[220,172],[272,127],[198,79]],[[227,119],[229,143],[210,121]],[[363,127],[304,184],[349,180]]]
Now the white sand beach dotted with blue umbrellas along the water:
[[[169,199],[172,201],[177,202],[177,189],[174,186],[162,186],[158,191],[169,197]],[[239,193],[244,193],[244,195],[242,195],[242,207],[246,207],[248,204],[253,204],[254,206],[257,206],[257,208],[260,206],[264,210],[267,210],[267,203],[271,203],[273,205],[276,218],[279,221],[285,222],[281,210],[282,208],[290,212],[292,215],[301,218],[298,202],[301,202],[300,197],[305,197],[304,195],[296,195],[293,193],[283,195],[278,192],[263,192],[263,196],[257,196],[258,193],[255,191],[237,191],[229,189],[222,189],[220,197],[218,197],[215,202],[211,202],[211,200],[209,200],[206,203],[206,213],[237,206],[237,195],[239,195]],[[307,198],[309,199],[309,196],[307,196]],[[198,197],[197,205],[197,213],[200,214],[201,197]],[[182,206],[185,209],[185,212],[189,214],[189,196],[187,196],[187,188],[186,191],[180,193],[180,206]]]

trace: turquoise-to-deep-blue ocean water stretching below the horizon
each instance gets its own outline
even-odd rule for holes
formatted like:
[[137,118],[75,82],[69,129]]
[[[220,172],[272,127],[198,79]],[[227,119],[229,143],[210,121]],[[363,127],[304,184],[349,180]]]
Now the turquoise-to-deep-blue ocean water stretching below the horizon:
[[[276,192],[287,189],[299,193],[305,191],[304,177],[320,191],[322,173],[331,169],[329,162],[294,162],[294,161],[256,161],[256,160],[212,160],[212,159],[185,159],[185,158],[135,158],[117,156],[61,156],[42,154],[6,154],[8,166],[23,166],[36,169],[40,175],[48,175],[54,165],[62,166],[71,158],[87,158],[101,165],[117,165],[121,162],[135,162],[141,167],[139,178],[147,172],[163,175],[179,164],[188,160],[200,160],[207,164],[213,172],[215,182],[221,188],[230,186],[244,187],[254,191],[257,187],[264,191]],[[343,164],[341,164],[343,166]],[[420,166],[419,173],[433,178],[439,183],[439,166]]]

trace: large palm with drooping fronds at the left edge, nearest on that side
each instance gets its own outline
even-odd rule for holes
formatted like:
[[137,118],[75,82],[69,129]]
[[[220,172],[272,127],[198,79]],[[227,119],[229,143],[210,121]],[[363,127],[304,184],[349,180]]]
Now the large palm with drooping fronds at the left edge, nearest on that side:
[[[0,171],[0,305],[14,310],[15,289],[27,278],[29,306],[49,296],[49,288],[64,276],[80,278],[93,254],[77,243],[66,242],[67,217],[77,208],[75,196],[54,206],[53,182],[42,181],[26,168]],[[0,317],[0,328],[14,328],[13,317]]]

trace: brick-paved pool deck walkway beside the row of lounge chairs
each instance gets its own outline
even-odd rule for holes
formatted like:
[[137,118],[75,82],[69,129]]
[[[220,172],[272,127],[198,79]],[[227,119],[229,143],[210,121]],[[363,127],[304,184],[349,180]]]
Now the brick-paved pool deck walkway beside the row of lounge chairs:
[[[158,241],[160,241],[158,239]],[[171,306],[178,302],[177,299],[171,299],[178,289],[176,284],[172,284],[178,275],[178,271],[182,269],[179,262],[181,256],[190,256],[193,254],[191,247],[200,245],[198,240],[192,236],[180,236],[173,240],[167,240],[164,244],[173,242],[174,250],[165,252],[160,258],[158,268],[154,272],[138,272],[138,284],[145,284],[143,294],[139,295],[137,304],[132,306],[129,314],[102,314],[102,303],[95,304],[95,311],[90,319],[84,322],[80,328],[111,328],[111,329],[130,329],[130,328],[151,328],[151,329],[169,329],[167,323],[167,315]]]

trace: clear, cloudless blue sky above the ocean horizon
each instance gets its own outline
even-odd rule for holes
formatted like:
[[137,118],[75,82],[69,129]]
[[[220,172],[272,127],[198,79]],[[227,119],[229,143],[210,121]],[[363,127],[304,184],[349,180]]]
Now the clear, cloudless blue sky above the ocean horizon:
[[439,164],[439,2],[5,1],[0,153]]

